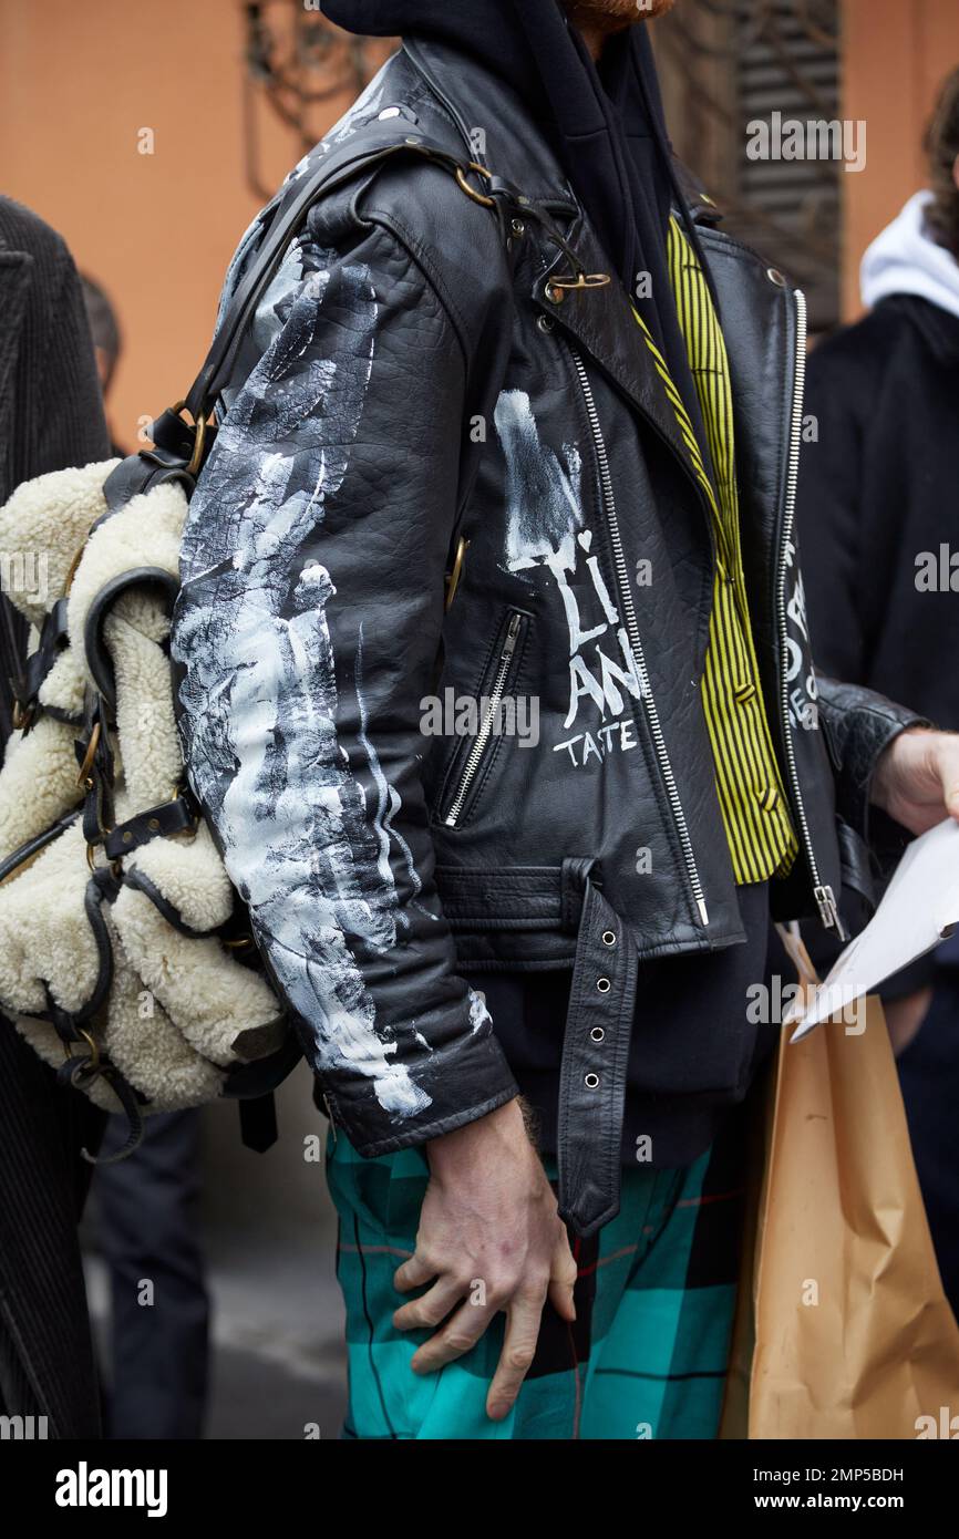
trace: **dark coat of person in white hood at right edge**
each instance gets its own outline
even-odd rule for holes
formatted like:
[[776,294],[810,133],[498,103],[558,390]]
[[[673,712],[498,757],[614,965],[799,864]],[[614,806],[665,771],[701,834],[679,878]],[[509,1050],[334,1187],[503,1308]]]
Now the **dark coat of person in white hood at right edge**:
[[[822,668],[959,728],[959,319],[911,294],[820,343],[819,440],[799,476],[813,649]],[[928,591],[925,556],[956,554]]]

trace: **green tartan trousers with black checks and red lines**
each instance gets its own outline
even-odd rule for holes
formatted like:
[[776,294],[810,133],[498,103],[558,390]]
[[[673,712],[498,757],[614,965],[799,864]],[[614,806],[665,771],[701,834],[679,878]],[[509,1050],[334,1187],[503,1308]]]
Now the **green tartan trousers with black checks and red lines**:
[[[742,1119],[682,1170],[623,1170],[616,1219],[573,1240],[576,1322],[551,1305],[533,1368],[502,1422],[485,1413],[505,1316],[429,1376],[409,1359],[429,1331],[397,1331],[393,1285],[416,1247],[428,1180],[419,1148],[362,1159],[340,1133],[326,1174],[339,1211],[349,1410],[357,1439],[714,1437],[725,1391],[743,1216]],[[554,1168],[546,1163],[554,1179]]]

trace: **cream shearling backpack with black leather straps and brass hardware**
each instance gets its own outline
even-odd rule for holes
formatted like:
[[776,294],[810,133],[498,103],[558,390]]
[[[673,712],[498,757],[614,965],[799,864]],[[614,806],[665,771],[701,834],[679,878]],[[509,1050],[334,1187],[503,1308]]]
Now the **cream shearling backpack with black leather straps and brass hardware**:
[[0,770],[0,1011],[66,1082],[126,1114],[114,1159],[145,1114],[219,1097],[259,1108],[245,1140],[268,1147],[266,1097],[300,1057],[186,780],[168,637],[188,500],[256,306],[309,206],[394,155],[456,175],[510,243],[514,189],[396,123],[366,128],[362,149],[326,149],[263,211],[256,260],[152,448],[40,476],[0,509],[6,597],[35,642],[11,680]]

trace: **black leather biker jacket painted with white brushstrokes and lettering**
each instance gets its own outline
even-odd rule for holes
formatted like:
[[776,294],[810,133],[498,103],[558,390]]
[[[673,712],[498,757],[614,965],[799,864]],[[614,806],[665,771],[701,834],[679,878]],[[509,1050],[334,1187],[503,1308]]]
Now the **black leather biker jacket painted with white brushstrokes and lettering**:
[[[360,1153],[514,1094],[457,965],[574,966],[560,1168],[590,1228],[614,1205],[591,1165],[613,1143],[619,1163],[637,957],[743,939],[700,705],[710,514],[628,294],[554,286],[608,262],[523,103],[457,52],[408,43],[292,175],[383,135],[480,162],[497,180],[468,185],[494,206],[409,157],[311,209],[191,503],[174,628],[185,746]],[[707,200],[693,212],[802,845],[774,910],[831,923],[837,816],[854,862],[876,759],[916,719],[813,671],[793,529],[805,306],[711,228]],[[254,225],[228,289],[259,239]],[[486,731],[490,709],[479,731],[431,736],[431,697],[446,725],[463,699],[534,700],[539,742]]]

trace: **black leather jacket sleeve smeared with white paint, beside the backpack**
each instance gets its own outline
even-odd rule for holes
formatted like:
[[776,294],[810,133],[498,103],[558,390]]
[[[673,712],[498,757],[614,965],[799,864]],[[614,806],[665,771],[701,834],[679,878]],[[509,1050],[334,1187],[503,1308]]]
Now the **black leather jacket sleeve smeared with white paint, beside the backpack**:
[[456,971],[420,779],[468,359],[389,231],[331,251],[316,229],[189,506],[174,656],[194,791],[331,1116],[374,1156],[517,1090]]

